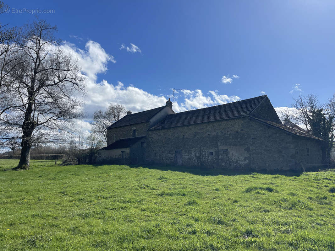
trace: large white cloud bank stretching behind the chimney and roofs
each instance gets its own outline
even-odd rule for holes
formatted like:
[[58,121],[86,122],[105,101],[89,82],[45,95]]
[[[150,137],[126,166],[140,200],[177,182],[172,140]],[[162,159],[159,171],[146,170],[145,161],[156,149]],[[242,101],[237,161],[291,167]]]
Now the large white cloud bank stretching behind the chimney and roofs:
[[[165,105],[171,96],[163,94],[154,95],[133,85],[125,85],[122,82],[116,84],[107,80],[97,82],[97,74],[108,70],[109,62],[115,63],[114,57],[109,55],[98,43],[88,41],[85,49],[80,50],[75,45],[65,43],[63,49],[72,53],[86,76],[86,96],[84,97],[86,120],[90,120],[94,111],[105,110],[110,103],[119,103],[127,110],[139,112]],[[172,94],[172,93],[171,93]],[[169,95],[171,95],[169,93]],[[209,91],[204,94],[202,90],[180,90],[175,91],[173,109],[175,112],[198,109],[212,105],[225,104],[238,101],[238,96],[227,96],[219,94],[218,91]],[[90,130],[87,121],[78,122],[78,127],[84,131]]]

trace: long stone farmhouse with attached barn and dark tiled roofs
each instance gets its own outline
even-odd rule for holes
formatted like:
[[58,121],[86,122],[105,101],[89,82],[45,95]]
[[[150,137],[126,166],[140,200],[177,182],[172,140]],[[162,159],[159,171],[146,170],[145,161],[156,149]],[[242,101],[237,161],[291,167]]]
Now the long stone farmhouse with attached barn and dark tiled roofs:
[[267,95],[175,113],[172,102],[107,128],[100,158],[210,168],[304,169],[322,162],[323,140],[284,126]]

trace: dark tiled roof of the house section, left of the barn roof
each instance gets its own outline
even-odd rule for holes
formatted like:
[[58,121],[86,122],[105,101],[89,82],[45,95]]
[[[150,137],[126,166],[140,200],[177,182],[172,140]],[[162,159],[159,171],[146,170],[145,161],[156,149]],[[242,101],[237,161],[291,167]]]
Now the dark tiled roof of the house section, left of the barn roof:
[[133,114],[126,115],[120,120],[116,121],[111,126],[109,126],[107,129],[128,126],[130,124],[147,122],[149,121],[150,118],[152,118],[154,115],[160,112],[164,107],[166,107],[166,105],[157,107],[151,110],[146,110],[146,111],[141,111],[141,112],[136,112]]

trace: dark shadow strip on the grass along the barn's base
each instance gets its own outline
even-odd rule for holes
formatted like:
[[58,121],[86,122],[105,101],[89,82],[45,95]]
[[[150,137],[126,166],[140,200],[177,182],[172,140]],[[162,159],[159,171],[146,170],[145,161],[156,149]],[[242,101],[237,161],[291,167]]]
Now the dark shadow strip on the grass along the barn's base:
[[269,171],[266,169],[263,170],[232,170],[232,169],[220,169],[220,168],[206,168],[206,167],[191,167],[191,166],[159,166],[159,165],[129,165],[131,168],[145,167],[148,169],[157,169],[162,171],[174,171],[174,172],[183,172],[190,173],[201,176],[216,176],[216,175],[248,175],[252,173],[260,173],[260,174],[279,174],[284,176],[300,176],[303,171]]

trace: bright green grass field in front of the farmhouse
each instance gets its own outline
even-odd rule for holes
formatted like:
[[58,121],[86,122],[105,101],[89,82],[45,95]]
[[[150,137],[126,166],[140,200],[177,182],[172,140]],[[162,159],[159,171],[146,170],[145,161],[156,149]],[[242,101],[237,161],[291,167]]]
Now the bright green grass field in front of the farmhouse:
[[0,250],[335,250],[332,170],[17,163],[0,160]]

